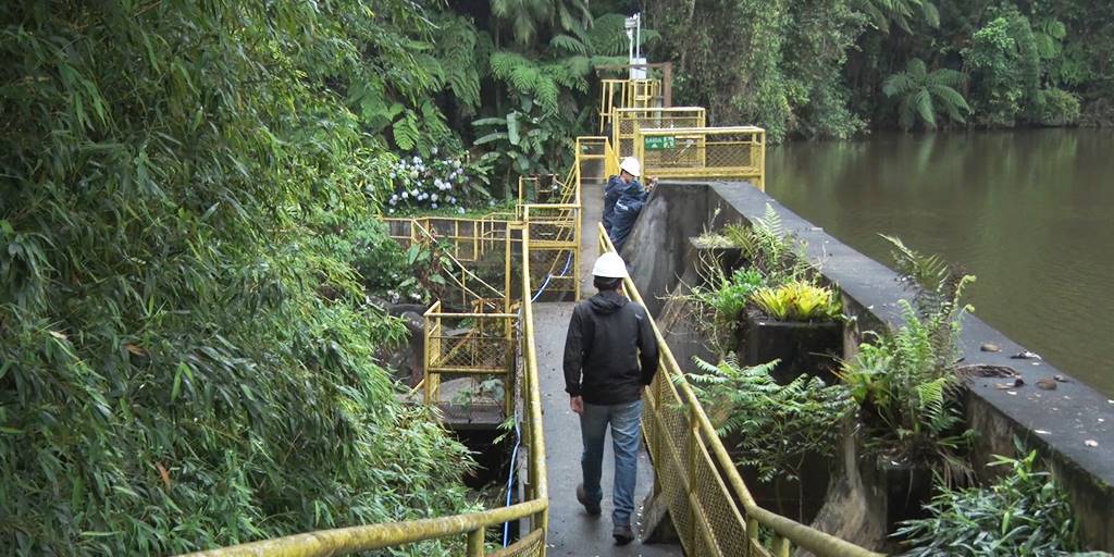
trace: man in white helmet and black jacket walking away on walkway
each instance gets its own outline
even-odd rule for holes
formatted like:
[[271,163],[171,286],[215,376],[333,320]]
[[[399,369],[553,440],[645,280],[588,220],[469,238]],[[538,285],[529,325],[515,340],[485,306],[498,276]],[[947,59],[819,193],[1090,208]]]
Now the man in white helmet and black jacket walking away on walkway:
[[576,498],[589,515],[599,515],[599,477],[604,436],[612,428],[615,486],[612,496],[615,543],[634,539],[631,514],[638,470],[642,391],[657,371],[657,339],[646,309],[622,294],[626,264],[615,253],[596,260],[593,283],[599,291],[576,305],[565,340],[565,390],[580,416],[584,483]]

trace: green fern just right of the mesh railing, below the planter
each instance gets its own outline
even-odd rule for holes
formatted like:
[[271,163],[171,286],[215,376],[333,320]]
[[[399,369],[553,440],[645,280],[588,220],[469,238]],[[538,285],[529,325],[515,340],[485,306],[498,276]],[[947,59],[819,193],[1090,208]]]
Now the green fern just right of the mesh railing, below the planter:
[[801,375],[779,385],[770,372],[774,360],[740,367],[734,354],[717,364],[695,359],[698,372],[688,373],[704,408],[722,437],[737,439],[739,466],[752,467],[759,478],[799,479],[807,457],[832,457],[839,443],[839,423],[854,404],[841,384],[824,385]]

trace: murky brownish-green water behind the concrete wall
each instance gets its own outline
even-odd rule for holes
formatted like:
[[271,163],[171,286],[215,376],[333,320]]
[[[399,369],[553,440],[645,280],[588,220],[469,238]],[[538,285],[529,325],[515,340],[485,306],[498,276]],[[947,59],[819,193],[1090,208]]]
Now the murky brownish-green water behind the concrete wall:
[[874,134],[766,156],[766,192],[889,264],[878,233],[978,276],[975,313],[1114,395],[1114,130]]

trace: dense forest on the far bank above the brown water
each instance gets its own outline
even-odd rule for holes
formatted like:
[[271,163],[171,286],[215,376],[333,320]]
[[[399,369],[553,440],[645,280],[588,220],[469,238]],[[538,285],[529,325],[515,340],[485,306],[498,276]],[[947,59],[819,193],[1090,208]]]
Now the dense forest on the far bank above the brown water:
[[772,140],[900,126],[1114,121],[1114,4],[1097,0],[648,0],[675,105]]

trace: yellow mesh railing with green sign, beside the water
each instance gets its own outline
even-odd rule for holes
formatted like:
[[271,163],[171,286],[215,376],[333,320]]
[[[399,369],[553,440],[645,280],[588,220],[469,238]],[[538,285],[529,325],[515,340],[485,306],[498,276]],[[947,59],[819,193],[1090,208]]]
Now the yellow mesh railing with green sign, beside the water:
[[762,128],[638,127],[632,145],[646,176],[742,178],[765,189],[765,130]]

